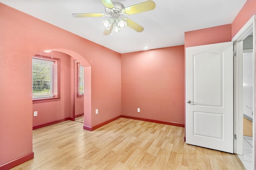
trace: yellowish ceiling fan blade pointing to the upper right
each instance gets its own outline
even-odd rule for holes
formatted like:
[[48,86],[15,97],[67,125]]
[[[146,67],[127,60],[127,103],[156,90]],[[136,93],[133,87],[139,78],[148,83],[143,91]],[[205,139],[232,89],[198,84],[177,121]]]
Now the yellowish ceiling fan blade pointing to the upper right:
[[122,9],[122,13],[124,15],[132,15],[132,14],[138,14],[140,12],[154,10],[155,8],[156,8],[155,2],[153,2],[152,0],[148,0],[140,4],[136,4],[136,5],[132,5],[124,8]]

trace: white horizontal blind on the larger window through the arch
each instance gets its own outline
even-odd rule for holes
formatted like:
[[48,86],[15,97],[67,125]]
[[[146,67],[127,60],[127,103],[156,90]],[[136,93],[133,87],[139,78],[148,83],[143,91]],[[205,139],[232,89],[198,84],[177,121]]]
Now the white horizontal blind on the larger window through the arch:
[[32,94],[36,98],[58,95],[58,65],[54,61],[32,58]]

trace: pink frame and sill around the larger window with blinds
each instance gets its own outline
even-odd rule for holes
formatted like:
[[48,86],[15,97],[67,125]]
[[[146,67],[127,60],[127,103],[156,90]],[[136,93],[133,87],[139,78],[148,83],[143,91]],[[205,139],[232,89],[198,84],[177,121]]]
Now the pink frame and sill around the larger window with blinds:
[[[56,59],[56,58],[51,58],[51,57],[47,57],[47,56],[40,56],[40,55],[34,55],[32,58],[34,59],[44,59],[44,60],[48,60],[48,61],[54,61],[54,64],[57,64],[57,95],[54,95],[53,97],[50,98],[34,98],[32,97],[32,101],[33,103],[39,103],[39,102],[48,102],[48,101],[55,101],[55,100],[60,100],[60,59]],[[31,62],[32,63],[32,62]],[[31,71],[33,70],[33,68],[31,69]],[[32,76],[32,81],[33,81],[33,76]],[[33,94],[32,94],[33,96]]]

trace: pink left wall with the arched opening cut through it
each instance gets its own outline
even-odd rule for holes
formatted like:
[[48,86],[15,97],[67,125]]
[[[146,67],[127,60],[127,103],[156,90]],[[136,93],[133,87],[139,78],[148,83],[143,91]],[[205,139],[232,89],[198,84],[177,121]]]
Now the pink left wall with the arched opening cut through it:
[[119,53],[2,3],[0,30],[0,165],[32,152],[32,56],[39,51],[66,51],[91,66],[91,100],[86,101],[91,102],[87,109],[92,115],[85,125],[95,126],[121,114]]

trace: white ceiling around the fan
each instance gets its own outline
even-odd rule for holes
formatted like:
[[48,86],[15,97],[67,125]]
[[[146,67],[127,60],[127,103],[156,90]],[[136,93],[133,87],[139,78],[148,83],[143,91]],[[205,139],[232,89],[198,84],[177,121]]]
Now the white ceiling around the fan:
[[[112,0],[114,1],[114,0]],[[146,0],[119,0],[125,7]],[[153,0],[152,11],[127,16],[144,27],[127,27],[116,35],[103,35],[104,18],[74,18],[73,13],[105,13],[100,0],[0,0],[80,37],[118,53],[184,44],[184,32],[232,23],[246,0]]]

